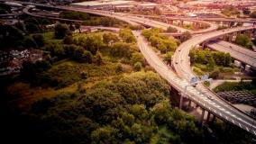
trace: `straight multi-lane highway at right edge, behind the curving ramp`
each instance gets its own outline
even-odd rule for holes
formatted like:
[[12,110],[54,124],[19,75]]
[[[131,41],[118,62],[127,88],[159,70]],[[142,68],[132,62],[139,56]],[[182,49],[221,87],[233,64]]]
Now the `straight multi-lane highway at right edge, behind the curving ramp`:
[[213,41],[206,44],[206,46],[218,51],[228,52],[233,58],[256,68],[256,52],[250,49],[242,48],[224,40]]

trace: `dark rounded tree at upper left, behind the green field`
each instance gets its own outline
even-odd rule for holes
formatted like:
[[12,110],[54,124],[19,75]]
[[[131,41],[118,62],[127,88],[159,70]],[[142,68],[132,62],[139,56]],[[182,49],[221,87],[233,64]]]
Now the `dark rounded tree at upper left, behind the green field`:
[[56,39],[63,39],[65,36],[70,35],[69,26],[67,24],[57,24],[54,28],[54,35]]

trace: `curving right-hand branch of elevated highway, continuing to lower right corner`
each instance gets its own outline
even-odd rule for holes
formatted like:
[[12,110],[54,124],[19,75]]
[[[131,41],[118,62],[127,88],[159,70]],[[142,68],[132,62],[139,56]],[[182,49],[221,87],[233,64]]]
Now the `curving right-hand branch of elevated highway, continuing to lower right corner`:
[[[190,40],[187,40],[180,44],[178,49],[173,55],[174,69],[177,72],[179,77],[183,77],[184,80],[188,83],[191,77],[196,76],[190,67],[190,59],[188,57],[190,49],[193,49],[197,44],[200,44],[206,40],[212,40],[217,37],[223,36],[224,34],[233,33],[236,31],[247,31],[256,29],[254,26],[249,27],[237,27],[233,29],[228,29],[224,31],[213,31],[201,35],[194,36]],[[194,89],[194,90],[193,90]],[[221,111],[219,116],[226,121],[239,126],[243,130],[251,132],[251,134],[256,135],[256,127],[254,120],[246,115],[245,113],[239,111],[232,104],[225,102],[220,97],[216,96],[214,92],[208,89],[202,84],[198,84],[196,88],[188,88],[188,91],[191,92],[203,92],[203,97],[214,97],[214,99],[205,100],[205,108],[209,107],[215,111]],[[193,95],[193,94],[192,94]],[[191,95],[189,95],[191,97]],[[191,97],[192,98],[192,97]]]

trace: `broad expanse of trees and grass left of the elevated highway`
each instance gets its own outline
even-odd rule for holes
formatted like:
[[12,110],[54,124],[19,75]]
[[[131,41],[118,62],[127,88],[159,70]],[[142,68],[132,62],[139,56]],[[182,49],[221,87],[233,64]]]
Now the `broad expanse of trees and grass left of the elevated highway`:
[[[204,139],[195,118],[171,106],[169,85],[146,67],[130,29],[72,33],[59,23],[53,31],[25,37],[24,48],[40,49],[44,58],[23,62],[20,75],[0,77],[1,101],[8,103],[1,104],[1,130],[5,138],[16,138],[10,143]],[[166,49],[177,47],[175,40],[170,44],[166,37],[155,37]]]

